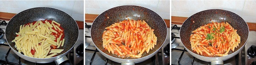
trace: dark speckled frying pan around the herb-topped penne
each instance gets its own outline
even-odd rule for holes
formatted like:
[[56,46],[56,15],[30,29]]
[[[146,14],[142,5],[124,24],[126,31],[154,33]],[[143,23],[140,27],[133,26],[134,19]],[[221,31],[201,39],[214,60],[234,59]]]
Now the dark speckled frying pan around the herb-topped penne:
[[[191,32],[196,30],[198,27],[203,26],[204,24],[208,24],[211,21],[214,22],[228,22],[235,30],[237,30],[237,34],[241,37],[241,43],[234,51],[229,51],[229,55],[224,57],[204,57],[196,54],[196,52],[191,50],[191,44],[189,42]],[[193,56],[198,58],[199,60],[218,63],[224,60],[228,60],[229,58],[237,55],[242,48],[245,46],[245,43],[248,39],[249,28],[247,23],[237,14],[221,10],[221,9],[210,9],[205,11],[200,11],[196,14],[193,14],[185,22],[182,24],[180,29],[180,39],[185,46],[185,49]]]

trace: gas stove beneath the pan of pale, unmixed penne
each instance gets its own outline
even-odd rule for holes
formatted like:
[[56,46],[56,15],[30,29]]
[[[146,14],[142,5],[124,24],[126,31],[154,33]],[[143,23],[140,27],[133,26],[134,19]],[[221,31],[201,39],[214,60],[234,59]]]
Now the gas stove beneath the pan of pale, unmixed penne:
[[[0,23],[4,20],[0,20]],[[5,21],[6,24],[9,21]],[[0,28],[3,29],[3,32],[5,33],[6,24],[3,23],[0,25]],[[83,50],[83,48],[79,48],[79,45],[83,46],[84,43],[84,30],[79,30],[79,38],[76,42],[76,45],[74,46],[73,50],[71,50],[66,56],[68,57],[69,61],[73,65],[83,65],[83,54],[80,55],[77,51]],[[5,34],[0,35],[0,65],[56,65],[55,62],[49,62],[49,63],[34,63],[27,60],[24,60],[20,58],[18,55],[14,53],[14,51],[11,50],[11,48],[8,46],[8,43],[6,42]]]

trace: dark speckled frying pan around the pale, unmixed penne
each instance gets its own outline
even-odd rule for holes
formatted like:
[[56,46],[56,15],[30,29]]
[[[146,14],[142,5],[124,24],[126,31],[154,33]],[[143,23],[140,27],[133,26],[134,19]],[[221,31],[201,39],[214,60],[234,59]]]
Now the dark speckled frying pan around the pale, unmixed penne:
[[[65,35],[65,43],[64,43],[64,46],[60,47],[59,49],[64,49],[64,51],[57,54],[56,57],[50,57],[50,58],[32,58],[32,57],[27,57],[23,54],[18,53],[18,50],[14,47],[15,43],[12,43],[11,41],[14,40],[14,38],[16,37],[15,33],[19,32],[19,26],[23,24],[27,24],[29,22],[31,23],[33,21],[45,20],[45,19],[54,20],[60,23],[60,26],[63,27],[64,35]],[[60,61],[60,60],[65,61],[67,59],[65,55],[68,54],[69,51],[71,51],[71,49],[75,46],[75,43],[79,35],[78,30],[79,29],[75,20],[65,12],[55,8],[38,7],[38,8],[30,8],[25,11],[22,11],[19,14],[16,14],[13,18],[11,18],[11,20],[6,26],[5,36],[9,46],[11,47],[11,50],[14,51],[15,54],[17,54],[19,57],[23,58],[24,60],[27,60],[30,62],[36,62],[36,63],[47,63],[47,62],[53,62],[55,60],[56,63],[59,63],[59,62],[61,63],[63,61]]]

